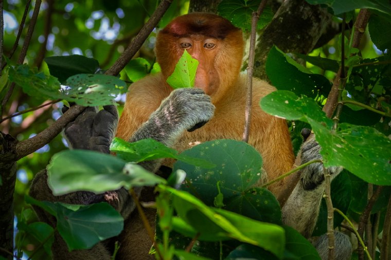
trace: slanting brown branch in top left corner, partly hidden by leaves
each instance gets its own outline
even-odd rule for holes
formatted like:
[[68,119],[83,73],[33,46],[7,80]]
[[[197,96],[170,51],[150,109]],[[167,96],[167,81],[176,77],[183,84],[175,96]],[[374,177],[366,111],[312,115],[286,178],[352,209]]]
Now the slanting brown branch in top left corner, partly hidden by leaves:
[[[23,64],[24,59],[26,58],[28,46],[30,45],[30,41],[31,41],[31,38],[32,38],[32,33],[34,32],[34,27],[35,27],[35,24],[37,23],[38,14],[40,12],[41,3],[42,3],[42,0],[36,0],[35,1],[34,11],[33,11],[32,16],[31,16],[30,25],[28,26],[28,29],[27,29],[26,38],[24,39],[21,53],[19,54],[19,58],[17,59],[17,63],[18,64]],[[12,83],[10,85],[10,88],[9,88],[6,96],[3,99],[2,107],[4,107],[7,104],[9,98],[12,95],[14,87],[15,87],[15,83]]]

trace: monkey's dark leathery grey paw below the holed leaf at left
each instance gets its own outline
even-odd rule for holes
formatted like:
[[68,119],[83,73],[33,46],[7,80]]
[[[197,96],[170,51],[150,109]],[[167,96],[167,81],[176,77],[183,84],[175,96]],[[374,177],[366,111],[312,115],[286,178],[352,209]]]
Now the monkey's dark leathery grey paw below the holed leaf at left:
[[[66,108],[63,108],[65,113]],[[64,128],[64,137],[70,148],[110,153],[110,144],[117,128],[118,113],[114,105],[87,107]]]

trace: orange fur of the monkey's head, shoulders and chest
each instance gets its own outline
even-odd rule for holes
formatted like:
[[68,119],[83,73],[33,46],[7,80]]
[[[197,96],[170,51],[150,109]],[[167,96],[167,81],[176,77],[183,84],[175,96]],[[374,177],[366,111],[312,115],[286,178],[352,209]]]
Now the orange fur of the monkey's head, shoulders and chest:
[[[185,29],[181,29],[181,26]],[[221,26],[222,29],[216,26]],[[203,35],[203,30],[208,35]],[[244,46],[242,32],[224,18],[202,13],[177,17],[162,32],[159,32],[156,57],[162,67],[162,73],[147,76],[129,87],[118,124],[117,137],[129,140],[140,125],[146,122],[150,114],[159,107],[162,100],[169,96],[172,88],[166,83],[166,79],[171,75],[177,60],[183,53],[178,42],[183,35],[176,34],[192,31],[194,35],[184,36],[194,47],[188,49],[189,53],[197,57],[200,62],[197,73],[202,77],[198,82],[211,82],[210,85],[197,86],[198,76],[196,76],[196,87],[204,89],[206,94],[210,95],[216,110],[214,117],[208,123],[193,132],[184,133],[173,148],[182,152],[198,142],[224,138],[242,139],[246,103],[246,76],[240,74]],[[204,50],[201,48],[202,44],[210,38],[210,35],[217,36],[215,39],[217,47]],[[274,90],[274,87],[264,81],[253,80],[253,108],[248,143],[262,155],[263,168],[269,180],[291,170],[294,162],[285,120],[266,114],[259,106],[260,99]],[[164,161],[168,166],[172,166],[172,163],[170,160]],[[278,195],[278,192],[283,189],[283,180],[269,189]],[[140,235],[139,217],[134,213],[132,216],[128,222],[138,221],[138,225],[129,225],[118,258],[148,259],[149,256],[141,252],[146,252],[151,242],[146,235]],[[133,237],[129,238],[128,236],[132,234]]]

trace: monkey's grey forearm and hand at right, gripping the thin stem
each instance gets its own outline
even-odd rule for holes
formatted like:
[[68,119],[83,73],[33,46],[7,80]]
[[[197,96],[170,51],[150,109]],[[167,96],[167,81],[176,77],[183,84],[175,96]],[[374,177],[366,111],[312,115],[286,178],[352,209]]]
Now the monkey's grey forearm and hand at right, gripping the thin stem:
[[[306,141],[301,147],[301,163],[322,159],[321,146],[314,140]],[[340,167],[328,169],[331,179],[341,171]],[[282,208],[282,221],[295,228],[305,237],[310,237],[319,214],[319,207],[325,191],[324,168],[322,163],[312,163],[300,173],[300,180]]]

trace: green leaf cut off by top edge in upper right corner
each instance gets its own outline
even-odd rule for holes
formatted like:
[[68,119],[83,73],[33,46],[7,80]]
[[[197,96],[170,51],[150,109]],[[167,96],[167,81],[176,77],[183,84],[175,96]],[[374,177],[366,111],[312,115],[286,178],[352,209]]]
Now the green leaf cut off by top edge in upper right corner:
[[335,15],[354,9],[375,9],[384,14],[391,14],[391,5],[386,0],[306,0],[311,5],[326,4]]

